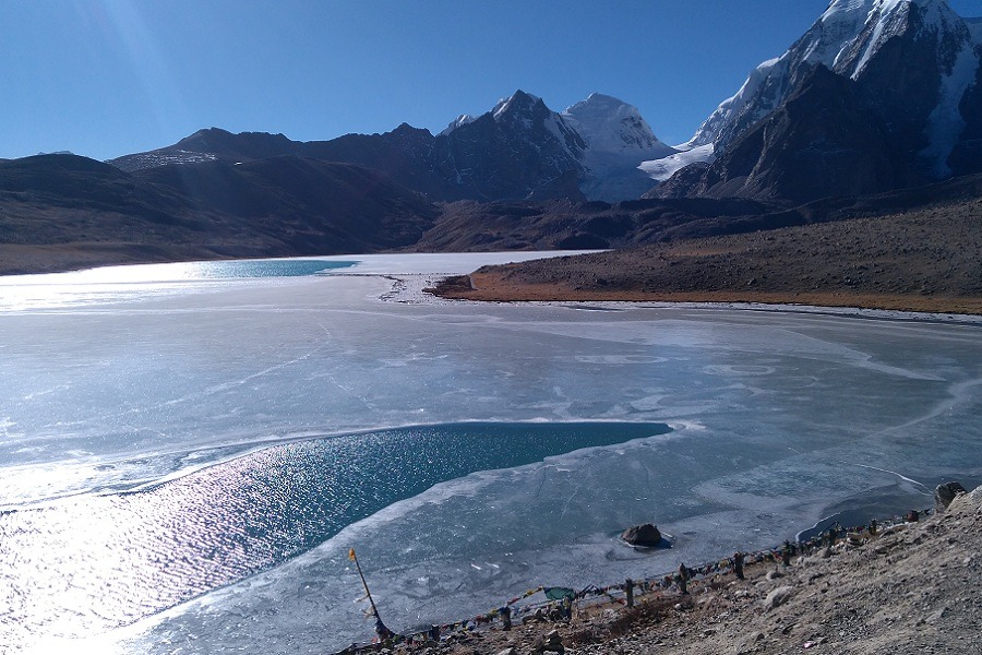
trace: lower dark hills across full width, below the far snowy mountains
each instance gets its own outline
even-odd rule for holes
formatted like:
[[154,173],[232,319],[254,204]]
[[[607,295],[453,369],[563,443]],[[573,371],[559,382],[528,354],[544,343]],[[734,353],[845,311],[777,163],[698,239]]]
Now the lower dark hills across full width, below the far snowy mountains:
[[[127,174],[48,155],[0,164],[0,273],[379,250],[623,248],[911,207],[946,211],[980,198],[982,174],[793,209],[711,198],[434,204],[363,167],[296,156]],[[958,247],[978,250],[967,238]]]

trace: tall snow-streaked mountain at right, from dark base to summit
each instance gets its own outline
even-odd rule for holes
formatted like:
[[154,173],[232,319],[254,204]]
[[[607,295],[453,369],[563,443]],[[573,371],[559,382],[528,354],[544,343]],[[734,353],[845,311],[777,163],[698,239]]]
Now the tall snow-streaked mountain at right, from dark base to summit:
[[795,202],[980,170],[982,48],[946,0],[833,0],[699,127],[644,169],[663,193]]

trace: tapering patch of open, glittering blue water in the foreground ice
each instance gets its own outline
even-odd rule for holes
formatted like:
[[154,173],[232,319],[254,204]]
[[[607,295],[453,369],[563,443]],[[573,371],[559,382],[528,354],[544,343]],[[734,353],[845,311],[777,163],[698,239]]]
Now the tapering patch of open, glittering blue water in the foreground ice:
[[272,446],[141,491],[10,511],[0,514],[0,604],[12,609],[0,641],[119,628],[304,552],[441,481],[668,431],[602,422],[386,430]]

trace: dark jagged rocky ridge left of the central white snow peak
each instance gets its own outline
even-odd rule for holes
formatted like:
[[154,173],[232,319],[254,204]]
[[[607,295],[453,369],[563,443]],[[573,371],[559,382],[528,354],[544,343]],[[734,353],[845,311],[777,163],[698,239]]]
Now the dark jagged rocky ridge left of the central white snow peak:
[[211,128],[171,146],[109,163],[136,171],[182,162],[237,164],[292,155],[371,168],[432,201],[584,200],[578,184],[586,175],[579,160],[585,147],[579,135],[540,98],[517,91],[493,114],[435,136],[406,123],[383,134],[310,142]]

